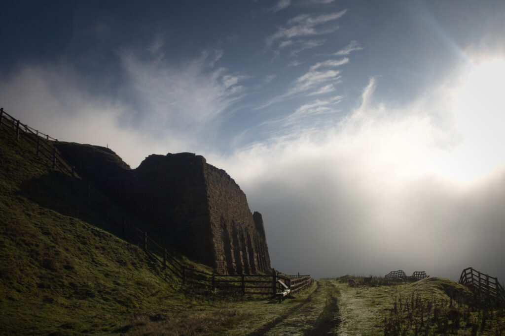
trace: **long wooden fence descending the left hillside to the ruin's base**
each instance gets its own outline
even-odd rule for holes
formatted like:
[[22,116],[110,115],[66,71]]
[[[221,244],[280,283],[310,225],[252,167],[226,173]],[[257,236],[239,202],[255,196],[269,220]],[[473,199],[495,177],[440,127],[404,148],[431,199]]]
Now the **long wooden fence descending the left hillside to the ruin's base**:
[[276,295],[284,288],[285,284],[290,293],[295,293],[312,285],[314,279],[310,275],[280,276],[274,268],[270,275],[218,275],[195,270],[193,267],[181,263],[170,254],[166,247],[161,246],[147,235],[141,221],[133,216],[126,216],[126,212],[117,206],[113,200],[93,187],[75,172],[54,146],[57,139],[21,123],[0,108],[0,127],[11,128],[14,137],[19,140],[20,135],[25,136],[34,146],[40,161],[52,166],[53,169],[69,175],[72,181],[73,192],[84,198],[87,205],[101,214],[108,227],[104,228],[117,237],[141,247],[153,260],[156,260],[163,270],[170,271],[181,280],[183,286],[206,288],[211,291],[226,290],[241,294]]

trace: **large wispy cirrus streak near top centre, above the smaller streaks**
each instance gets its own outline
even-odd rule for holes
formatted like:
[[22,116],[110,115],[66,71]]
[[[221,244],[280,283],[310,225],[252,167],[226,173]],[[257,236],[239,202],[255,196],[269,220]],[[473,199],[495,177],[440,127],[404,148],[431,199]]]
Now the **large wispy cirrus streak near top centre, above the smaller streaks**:
[[289,40],[299,36],[314,36],[331,33],[337,29],[335,26],[328,27],[328,22],[341,18],[347,10],[340,12],[313,16],[309,14],[298,15],[288,20],[285,27],[279,27],[277,32],[265,39],[267,46],[272,46],[277,40]]

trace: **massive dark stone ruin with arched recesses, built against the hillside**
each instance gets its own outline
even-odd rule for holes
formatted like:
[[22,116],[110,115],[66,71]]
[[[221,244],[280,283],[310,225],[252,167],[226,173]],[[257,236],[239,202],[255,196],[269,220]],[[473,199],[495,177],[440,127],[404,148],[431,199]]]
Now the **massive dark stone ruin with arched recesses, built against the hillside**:
[[[70,148],[60,150],[75,153]],[[261,214],[251,214],[237,183],[203,156],[150,155],[131,170],[110,157],[107,164],[89,164],[90,158],[96,160],[103,153],[90,155],[89,148],[79,148],[78,152],[74,160],[87,169],[81,174],[89,174],[104,191],[141,218],[149,234],[160,243],[214,267],[219,274],[270,271]],[[111,165],[111,161],[117,165]]]

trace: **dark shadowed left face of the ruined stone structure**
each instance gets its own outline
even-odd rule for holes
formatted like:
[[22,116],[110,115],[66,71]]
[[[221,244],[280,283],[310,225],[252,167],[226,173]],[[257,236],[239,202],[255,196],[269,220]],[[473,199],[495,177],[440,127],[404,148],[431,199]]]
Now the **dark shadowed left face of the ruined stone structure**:
[[214,266],[205,165],[204,157],[190,153],[150,155],[116,188],[160,243]]

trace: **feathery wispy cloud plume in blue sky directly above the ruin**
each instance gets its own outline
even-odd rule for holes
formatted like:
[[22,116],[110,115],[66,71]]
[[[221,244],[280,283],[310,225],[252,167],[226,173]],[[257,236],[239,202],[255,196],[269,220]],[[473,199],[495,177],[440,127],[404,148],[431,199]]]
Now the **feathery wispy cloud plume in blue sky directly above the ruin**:
[[[130,95],[142,106],[136,123],[149,128],[156,120],[159,132],[171,132],[184,137],[207,128],[243,94],[242,74],[218,68],[222,51],[206,51],[200,57],[174,66],[158,57],[141,57],[123,50],[120,59],[129,81]],[[155,130],[155,132],[157,132]]]

